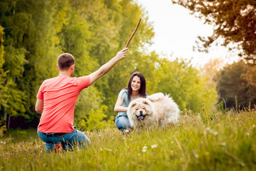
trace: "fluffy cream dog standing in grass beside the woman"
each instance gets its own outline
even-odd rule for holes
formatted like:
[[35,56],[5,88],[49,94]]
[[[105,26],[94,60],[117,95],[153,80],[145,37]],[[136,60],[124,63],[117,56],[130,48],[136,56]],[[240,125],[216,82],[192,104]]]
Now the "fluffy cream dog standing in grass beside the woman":
[[161,127],[175,123],[180,109],[169,95],[155,93],[146,98],[133,100],[128,107],[127,115],[133,128],[158,123]]

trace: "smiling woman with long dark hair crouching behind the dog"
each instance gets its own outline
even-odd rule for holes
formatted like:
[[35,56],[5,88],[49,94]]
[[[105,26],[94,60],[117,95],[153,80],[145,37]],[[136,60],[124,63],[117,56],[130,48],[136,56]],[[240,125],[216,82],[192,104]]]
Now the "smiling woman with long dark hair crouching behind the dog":
[[116,127],[122,132],[124,129],[132,128],[127,117],[129,103],[139,97],[147,97],[146,88],[146,81],[143,74],[135,72],[129,79],[128,86],[120,91],[114,111],[118,112],[115,119]]

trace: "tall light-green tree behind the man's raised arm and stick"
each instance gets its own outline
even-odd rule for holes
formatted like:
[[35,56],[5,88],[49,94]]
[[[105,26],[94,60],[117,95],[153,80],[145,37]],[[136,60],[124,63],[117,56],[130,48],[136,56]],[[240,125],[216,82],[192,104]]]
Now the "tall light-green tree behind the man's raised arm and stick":
[[[79,66],[82,64],[81,69],[78,68],[79,72],[76,72],[79,73],[78,76],[81,74],[90,74],[91,72],[96,71],[101,65],[108,62],[108,60],[115,56],[117,51],[124,48],[125,43],[137,24],[137,20],[143,16],[144,13],[143,10],[132,1],[97,0],[70,1],[70,3],[72,8],[70,9],[71,13],[68,15],[72,15],[72,23],[64,25],[63,31],[60,32],[59,35],[62,38],[60,42],[62,47],[64,47],[63,51],[75,54],[76,62],[79,63]],[[113,112],[116,97],[120,89],[127,86],[126,84],[129,76],[131,76],[132,72],[135,71],[135,66],[143,60],[143,58],[138,58],[138,56],[141,55],[139,49],[143,48],[143,43],[147,43],[153,36],[151,25],[146,22],[147,18],[143,21],[144,23],[141,23],[140,25],[140,31],[137,31],[130,43],[129,47],[131,50],[128,52],[129,57],[126,58],[125,61],[118,63],[112,71],[107,75],[104,75],[103,78],[97,80],[93,85],[96,89],[92,89],[94,89],[95,93],[98,93],[101,96],[101,100],[97,100],[97,104],[92,102],[86,103],[83,101],[84,104],[95,104],[94,107],[91,107],[94,109],[100,104],[107,105],[107,117],[116,115],[116,113]],[[81,24],[78,24],[80,22]],[[74,26],[72,26],[73,24]],[[86,27],[78,28],[78,25],[84,25]],[[78,30],[67,31],[69,28],[76,28]],[[83,29],[82,34],[78,34],[81,32],[79,29]],[[143,30],[144,32],[142,34],[141,31]],[[67,32],[70,33],[67,34]],[[70,35],[68,41],[67,35]],[[68,47],[71,47],[69,49],[66,48],[67,42],[69,43]],[[76,45],[78,42],[82,42],[79,43],[82,45]],[[79,47],[77,48],[78,50],[75,50],[72,47],[72,44],[74,44],[74,46],[84,47]],[[83,99],[90,101],[90,96],[91,95],[89,95],[88,98]],[[97,99],[99,99],[99,97],[97,97]],[[88,113],[90,108],[84,108],[84,106],[87,105],[83,105],[79,100],[80,99],[78,99],[78,105],[76,105],[76,107],[80,105],[80,107],[85,110],[83,112]],[[77,112],[79,111],[76,110],[76,113]],[[83,113],[80,114],[83,115]]]

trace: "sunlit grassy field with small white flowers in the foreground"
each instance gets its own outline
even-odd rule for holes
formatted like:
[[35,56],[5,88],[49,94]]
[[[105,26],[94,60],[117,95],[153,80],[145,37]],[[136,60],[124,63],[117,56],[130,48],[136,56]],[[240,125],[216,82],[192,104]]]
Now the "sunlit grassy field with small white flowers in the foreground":
[[61,153],[15,130],[1,139],[0,170],[256,170],[255,124],[255,110],[184,112],[165,128],[86,132],[91,146]]

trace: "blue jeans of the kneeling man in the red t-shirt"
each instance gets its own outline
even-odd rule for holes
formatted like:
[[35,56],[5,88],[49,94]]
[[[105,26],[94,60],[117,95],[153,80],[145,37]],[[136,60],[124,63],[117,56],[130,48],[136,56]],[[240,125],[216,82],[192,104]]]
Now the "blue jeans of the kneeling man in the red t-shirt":
[[85,148],[84,143],[91,145],[91,141],[88,139],[83,132],[76,130],[76,127],[73,127],[74,131],[71,133],[66,133],[62,137],[49,137],[52,133],[46,133],[44,135],[42,132],[37,132],[39,138],[44,141],[46,145],[46,152],[50,152],[54,149],[55,144],[61,143],[64,149],[72,149],[73,145],[79,145],[80,148]]

